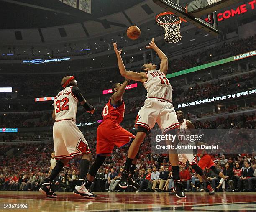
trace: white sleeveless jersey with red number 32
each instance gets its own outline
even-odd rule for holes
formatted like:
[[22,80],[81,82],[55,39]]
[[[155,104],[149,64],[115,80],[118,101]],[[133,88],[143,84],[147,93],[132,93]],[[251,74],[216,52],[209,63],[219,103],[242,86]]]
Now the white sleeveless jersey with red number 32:
[[76,121],[78,99],[71,89],[72,86],[64,88],[54,99],[55,121]]

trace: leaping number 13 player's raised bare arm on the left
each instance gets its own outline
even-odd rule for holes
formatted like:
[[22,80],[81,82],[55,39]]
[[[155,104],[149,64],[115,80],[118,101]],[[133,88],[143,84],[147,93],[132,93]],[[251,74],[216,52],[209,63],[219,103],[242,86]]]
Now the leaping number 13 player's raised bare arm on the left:
[[132,72],[132,71],[126,71],[125,65],[123,64],[123,59],[121,57],[122,49],[120,51],[117,49],[117,44],[113,43],[114,46],[114,51],[118,59],[118,68],[120,71],[120,74],[123,77],[126,77],[128,79],[132,79],[134,81],[140,81],[140,82],[145,82],[147,80],[147,75],[146,73],[137,73],[137,72]]

